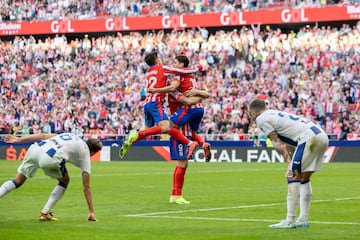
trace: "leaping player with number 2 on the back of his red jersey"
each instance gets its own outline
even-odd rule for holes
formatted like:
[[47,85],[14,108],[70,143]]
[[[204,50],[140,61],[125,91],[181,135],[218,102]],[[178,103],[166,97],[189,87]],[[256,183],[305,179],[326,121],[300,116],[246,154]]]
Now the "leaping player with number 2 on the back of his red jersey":
[[[162,65],[161,59],[157,52],[151,52],[145,56],[145,62],[149,66],[146,73],[146,88],[162,88],[167,85],[167,77],[170,75],[186,75],[199,71],[197,69],[178,69]],[[150,94],[145,99],[145,125],[146,129],[129,133],[129,138],[120,148],[119,155],[121,158],[129,151],[134,142],[144,139],[146,136],[161,133],[169,133],[171,137],[189,146],[187,157],[190,158],[198,143],[186,138],[178,129],[171,128],[169,118],[164,109],[165,102],[164,93]]]

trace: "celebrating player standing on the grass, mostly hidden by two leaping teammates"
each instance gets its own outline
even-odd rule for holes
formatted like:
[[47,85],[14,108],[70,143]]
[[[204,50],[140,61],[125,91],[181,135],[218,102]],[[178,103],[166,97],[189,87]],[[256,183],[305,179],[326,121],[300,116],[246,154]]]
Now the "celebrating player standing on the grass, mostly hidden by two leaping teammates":
[[[209,94],[205,91],[199,91],[196,97],[185,97],[181,92],[177,91],[168,96],[168,105],[170,113],[174,114],[182,105],[191,106],[197,104],[204,98],[208,98]],[[181,126],[179,130],[184,136],[192,137],[192,130],[189,123]],[[182,189],[185,181],[185,173],[189,159],[186,154],[187,146],[174,138],[170,138],[170,158],[176,160],[176,167],[173,173],[172,191],[169,199],[170,203],[190,204],[182,196]]]

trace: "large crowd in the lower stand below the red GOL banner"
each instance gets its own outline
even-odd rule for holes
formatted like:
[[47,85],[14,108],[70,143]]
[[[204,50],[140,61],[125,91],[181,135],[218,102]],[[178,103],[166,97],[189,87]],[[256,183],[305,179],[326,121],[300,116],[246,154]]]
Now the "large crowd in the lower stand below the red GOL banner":
[[208,140],[261,139],[246,113],[254,97],[317,121],[337,139],[360,136],[360,22],[289,33],[244,26],[73,40],[15,36],[0,45],[1,134],[122,138],[143,128],[143,57],[155,49],[164,64],[184,54],[206,66],[197,85],[211,95],[201,125]]

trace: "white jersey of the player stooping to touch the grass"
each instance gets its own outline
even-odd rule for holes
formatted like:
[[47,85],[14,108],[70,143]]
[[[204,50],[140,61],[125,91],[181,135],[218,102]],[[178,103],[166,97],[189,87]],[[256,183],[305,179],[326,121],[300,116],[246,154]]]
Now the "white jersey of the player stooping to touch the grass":
[[90,150],[84,140],[71,133],[62,133],[43,140],[38,146],[51,158],[63,159],[81,168],[82,172],[90,171]]

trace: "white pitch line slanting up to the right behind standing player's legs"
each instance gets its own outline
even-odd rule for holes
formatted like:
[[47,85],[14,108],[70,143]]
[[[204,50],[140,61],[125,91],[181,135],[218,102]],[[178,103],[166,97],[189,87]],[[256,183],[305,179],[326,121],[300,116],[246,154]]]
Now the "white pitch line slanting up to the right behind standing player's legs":
[[[336,199],[313,200],[312,202],[347,201],[347,200],[355,200],[355,199],[360,199],[360,197],[347,197],[347,198],[336,198]],[[124,215],[124,216],[126,216],[126,217],[149,217],[149,216],[159,216],[159,215],[187,213],[187,212],[210,212],[210,211],[229,210],[229,209],[270,207],[270,206],[278,206],[278,205],[284,205],[284,204],[285,203],[268,203],[268,204],[255,204],[255,205],[243,205],[243,206],[232,206],[232,207],[189,209],[189,210],[152,212],[152,213],[138,213],[138,214],[128,214],[128,215]]]

